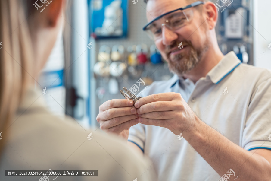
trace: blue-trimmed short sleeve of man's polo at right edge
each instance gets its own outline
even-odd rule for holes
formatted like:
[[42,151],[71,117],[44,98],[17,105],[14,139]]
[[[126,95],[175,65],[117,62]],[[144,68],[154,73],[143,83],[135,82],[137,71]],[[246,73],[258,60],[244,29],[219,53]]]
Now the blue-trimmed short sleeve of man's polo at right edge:
[[271,150],[271,78],[259,81],[251,95],[242,137],[242,147]]

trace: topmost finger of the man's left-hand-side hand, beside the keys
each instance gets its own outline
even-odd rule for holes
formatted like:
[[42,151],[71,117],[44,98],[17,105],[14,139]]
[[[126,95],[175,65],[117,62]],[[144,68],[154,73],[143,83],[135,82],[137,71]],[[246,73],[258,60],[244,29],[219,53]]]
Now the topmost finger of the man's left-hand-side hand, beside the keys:
[[106,111],[111,108],[117,108],[117,107],[130,107],[133,106],[134,103],[132,100],[127,100],[127,99],[112,99],[104,102],[99,110],[100,111]]

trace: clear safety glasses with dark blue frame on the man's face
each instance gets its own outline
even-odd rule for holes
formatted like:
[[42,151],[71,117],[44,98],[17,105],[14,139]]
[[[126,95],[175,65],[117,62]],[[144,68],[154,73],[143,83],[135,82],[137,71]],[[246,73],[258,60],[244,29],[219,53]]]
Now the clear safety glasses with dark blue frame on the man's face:
[[162,28],[164,28],[164,26],[172,31],[176,31],[187,25],[194,16],[193,9],[191,9],[191,7],[195,7],[200,4],[204,3],[197,1],[182,8],[162,14],[146,24],[145,27],[143,27],[143,30],[148,33],[152,40],[160,39],[162,37]]

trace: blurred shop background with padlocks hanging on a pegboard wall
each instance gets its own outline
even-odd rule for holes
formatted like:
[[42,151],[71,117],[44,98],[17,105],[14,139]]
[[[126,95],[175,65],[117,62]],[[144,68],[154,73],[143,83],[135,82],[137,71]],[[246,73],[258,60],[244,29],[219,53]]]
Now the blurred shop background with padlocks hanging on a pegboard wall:
[[[212,1],[219,7],[216,34],[223,54],[234,51],[243,63],[271,69],[271,1],[233,0],[226,9],[223,1]],[[64,32],[39,79],[54,114],[98,128],[99,106],[123,98],[123,87],[139,95],[153,81],[173,76],[142,30],[145,7],[143,0],[69,2]]]

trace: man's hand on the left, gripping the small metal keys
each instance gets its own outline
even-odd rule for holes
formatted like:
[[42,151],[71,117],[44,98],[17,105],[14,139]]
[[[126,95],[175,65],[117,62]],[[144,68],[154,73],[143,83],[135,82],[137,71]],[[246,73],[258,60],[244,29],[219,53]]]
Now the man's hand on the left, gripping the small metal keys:
[[133,105],[133,101],[127,99],[113,99],[103,103],[96,118],[101,130],[127,140],[130,127],[138,123],[137,109]]

